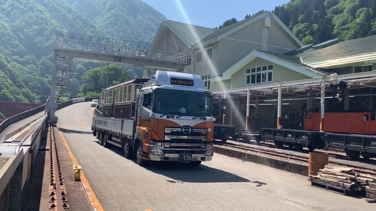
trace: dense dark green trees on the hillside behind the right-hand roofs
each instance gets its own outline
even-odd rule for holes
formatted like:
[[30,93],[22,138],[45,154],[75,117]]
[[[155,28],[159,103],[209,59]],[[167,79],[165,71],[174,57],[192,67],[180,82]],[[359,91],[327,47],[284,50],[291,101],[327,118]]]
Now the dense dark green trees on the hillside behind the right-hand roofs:
[[273,12],[304,44],[376,35],[376,0],[291,0]]

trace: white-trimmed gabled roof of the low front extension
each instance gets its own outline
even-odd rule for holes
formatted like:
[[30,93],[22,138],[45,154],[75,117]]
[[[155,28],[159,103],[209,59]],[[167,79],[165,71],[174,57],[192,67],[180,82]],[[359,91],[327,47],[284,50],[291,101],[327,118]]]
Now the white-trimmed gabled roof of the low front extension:
[[238,62],[233,64],[229,69],[224,71],[222,74],[222,77],[224,79],[228,79],[230,75],[235,74],[235,72],[239,71],[241,68],[246,66],[248,63],[252,62],[257,57],[268,60],[277,65],[284,66],[288,69],[292,69],[293,71],[307,75],[311,78],[322,77],[322,75],[327,74],[327,72],[325,71],[322,71],[320,69],[315,69],[308,65],[303,64],[300,61],[300,57],[253,49],[250,53],[248,53],[242,59],[240,59]]

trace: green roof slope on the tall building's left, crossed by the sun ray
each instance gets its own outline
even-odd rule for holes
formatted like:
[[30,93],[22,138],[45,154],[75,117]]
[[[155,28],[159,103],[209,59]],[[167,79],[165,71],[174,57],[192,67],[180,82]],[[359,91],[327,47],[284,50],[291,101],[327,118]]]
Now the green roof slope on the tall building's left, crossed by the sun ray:
[[177,33],[179,33],[186,41],[191,45],[208,35],[209,33],[216,31],[215,29],[196,26],[192,24],[181,23],[177,21],[166,20],[166,23],[170,24]]

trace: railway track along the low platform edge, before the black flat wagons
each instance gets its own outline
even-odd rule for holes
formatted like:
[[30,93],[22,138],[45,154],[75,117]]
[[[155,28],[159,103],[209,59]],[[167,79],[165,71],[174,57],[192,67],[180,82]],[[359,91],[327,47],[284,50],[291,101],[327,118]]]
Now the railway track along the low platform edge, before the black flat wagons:
[[[286,152],[276,152],[276,151],[271,150],[271,149],[257,148],[257,147],[246,146],[246,145],[237,145],[237,144],[233,144],[233,143],[223,143],[223,144],[219,144],[219,145],[228,146],[228,147],[236,148],[236,149],[243,149],[243,150],[251,151],[251,152],[258,152],[258,153],[261,153],[261,154],[267,154],[267,155],[272,155],[272,156],[281,157],[281,158],[288,158],[288,159],[291,159],[291,160],[297,160],[297,161],[302,161],[302,162],[308,163],[308,157],[303,156],[303,155],[295,155],[295,154],[290,154],[290,153],[286,153]],[[355,168],[356,171],[358,171],[360,173],[366,173],[366,174],[369,174],[369,175],[376,176],[376,170],[375,169],[356,166],[356,165],[352,165],[352,164],[340,163],[340,162],[336,162],[336,161],[329,161],[329,164],[335,164],[335,165],[338,165],[338,166]]]

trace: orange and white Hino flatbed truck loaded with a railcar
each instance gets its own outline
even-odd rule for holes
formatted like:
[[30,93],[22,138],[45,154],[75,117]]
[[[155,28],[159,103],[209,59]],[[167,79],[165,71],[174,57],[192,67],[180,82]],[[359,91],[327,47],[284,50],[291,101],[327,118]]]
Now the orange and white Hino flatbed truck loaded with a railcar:
[[104,96],[107,117],[93,117],[91,127],[101,145],[121,147],[141,166],[149,160],[212,160],[213,95],[199,75],[157,71],[147,82],[109,87]]

